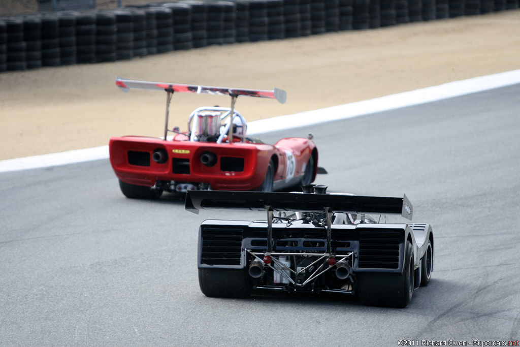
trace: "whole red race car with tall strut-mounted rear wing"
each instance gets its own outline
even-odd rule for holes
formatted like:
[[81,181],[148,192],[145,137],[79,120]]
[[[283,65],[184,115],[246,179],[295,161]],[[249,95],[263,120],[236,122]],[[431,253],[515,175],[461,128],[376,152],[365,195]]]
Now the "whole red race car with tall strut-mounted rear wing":
[[[281,89],[222,88],[131,81],[116,78],[123,91],[131,88],[166,92],[164,137],[123,136],[110,139],[110,162],[128,198],[156,199],[163,191],[300,189],[314,181],[318,150],[308,138],[282,138],[275,145],[249,138],[247,124],[235,110],[238,96],[276,99]],[[188,119],[188,131],[168,129],[168,109],[174,93],[228,95],[231,107],[200,107]],[[168,133],[173,133],[168,135]]]

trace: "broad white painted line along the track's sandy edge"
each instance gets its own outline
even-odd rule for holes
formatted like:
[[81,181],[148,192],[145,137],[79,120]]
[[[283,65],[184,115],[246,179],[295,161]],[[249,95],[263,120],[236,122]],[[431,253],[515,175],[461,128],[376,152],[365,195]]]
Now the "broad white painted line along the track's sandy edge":
[[[300,112],[248,123],[248,134],[260,134],[276,130],[360,117],[375,112],[394,110],[425,104],[461,95],[488,91],[520,83],[520,70],[502,72],[469,80],[449,82],[434,87],[418,89],[380,98],[332,106],[319,110]],[[41,156],[0,161],[0,172],[45,168],[109,158],[108,146],[77,149]]]

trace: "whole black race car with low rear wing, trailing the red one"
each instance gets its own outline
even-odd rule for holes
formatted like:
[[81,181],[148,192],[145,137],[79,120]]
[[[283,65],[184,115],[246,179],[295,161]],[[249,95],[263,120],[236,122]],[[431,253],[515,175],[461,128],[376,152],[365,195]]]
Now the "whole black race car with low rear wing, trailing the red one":
[[[411,220],[402,198],[304,192],[188,191],[186,209],[245,209],[266,221],[206,220],[199,228],[199,284],[208,297],[261,290],[359,294],[363,304],[405,307],[433,270],[430,224]],[[379,214],[376,220],[369,214]]]

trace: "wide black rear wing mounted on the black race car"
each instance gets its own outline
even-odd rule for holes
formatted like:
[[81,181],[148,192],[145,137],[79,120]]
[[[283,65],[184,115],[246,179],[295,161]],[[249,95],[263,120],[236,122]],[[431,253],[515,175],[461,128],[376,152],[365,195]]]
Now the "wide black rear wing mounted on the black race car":
[[191,190],[186,193],[186,210],[238,209],[251,211],[343,212],[400,214],[412,220],[412,204],[402,198],[300,192],[254,192]]

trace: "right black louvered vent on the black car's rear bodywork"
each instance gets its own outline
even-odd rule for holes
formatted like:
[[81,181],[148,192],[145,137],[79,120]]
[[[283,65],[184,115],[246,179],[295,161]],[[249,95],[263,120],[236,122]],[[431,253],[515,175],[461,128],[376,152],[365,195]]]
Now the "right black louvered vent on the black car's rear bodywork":
[[359,232],[360,268],[399,268],[402,230],[366,229]]

